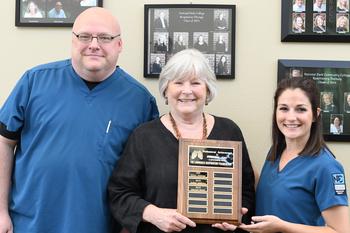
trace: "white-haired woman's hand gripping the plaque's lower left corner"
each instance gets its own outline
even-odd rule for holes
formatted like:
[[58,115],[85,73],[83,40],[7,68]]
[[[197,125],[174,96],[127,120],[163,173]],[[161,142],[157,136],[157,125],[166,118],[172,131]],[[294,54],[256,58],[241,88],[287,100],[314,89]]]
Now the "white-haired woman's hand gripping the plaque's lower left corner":
[[176,212],[175,209],[158,208],[148,205],[142,215],[144,221],[150,222],[164,232],[182,231],[186,226],[195,227],[189,218]]

